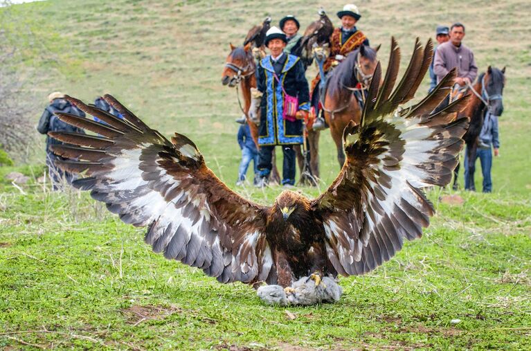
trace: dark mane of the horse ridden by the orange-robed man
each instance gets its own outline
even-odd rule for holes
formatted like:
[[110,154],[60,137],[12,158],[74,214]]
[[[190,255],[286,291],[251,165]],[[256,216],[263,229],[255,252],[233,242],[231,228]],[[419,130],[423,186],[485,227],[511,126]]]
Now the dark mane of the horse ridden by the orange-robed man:
[[[357,64],[357,57],[359,55],[359,48],[352,51],[350,55],[339,64],[332,75],[330,75],[328,86],[328,92],[330,96],[334,96],[338,91],[345,89],[345,87],[355,87],[358,84],[356,75],[354,74],[354,66]],[[370,61],[376,60],[376,51],[370,46],[365,46],[364,55],[366,59]]]

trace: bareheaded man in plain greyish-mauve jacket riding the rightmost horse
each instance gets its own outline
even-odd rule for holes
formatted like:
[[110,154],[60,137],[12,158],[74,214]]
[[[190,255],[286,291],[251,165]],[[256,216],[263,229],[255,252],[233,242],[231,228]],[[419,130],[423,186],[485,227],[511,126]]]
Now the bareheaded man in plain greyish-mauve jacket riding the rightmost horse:
[[465,26],[460,23],[453,24],[450,28],[450,40],[438,46],[435,51],[435,62],[433,71],[437,75],[437,82],[440,82],[444,75],[453,69],[458,68],[458,78],[456,84],[460,87],[467,83],[474,82],[478,75],[478,67],[474,60],[474,53],[462,44],[465,37]]

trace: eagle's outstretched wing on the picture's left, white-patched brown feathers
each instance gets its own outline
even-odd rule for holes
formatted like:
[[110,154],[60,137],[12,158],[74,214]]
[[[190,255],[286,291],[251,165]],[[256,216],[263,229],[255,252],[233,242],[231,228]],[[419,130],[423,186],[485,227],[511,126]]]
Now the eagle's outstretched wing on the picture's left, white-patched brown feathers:
[[54,145],[55,163],[88,177],[73,182],[107,204],[123,222],[148,226],[145,241],[165,258],[203,269],[219,282],[276,280],[264,235],[264,206],[228,189],[206,167],[186,136],[168,141],[147,127],[112,96],[105,100],[124,119],[80,100],[67,100],[98,116],[98,123],[70,114],[61,120],[100,136],[50,132],[66,145]]

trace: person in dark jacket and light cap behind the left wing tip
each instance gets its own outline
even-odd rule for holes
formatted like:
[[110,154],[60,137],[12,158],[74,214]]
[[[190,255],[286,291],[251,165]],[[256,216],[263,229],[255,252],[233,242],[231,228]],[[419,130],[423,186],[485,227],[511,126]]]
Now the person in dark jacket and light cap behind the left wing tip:
[[[84,134],[82,129],[72,127],[55,116],[55,112],[64,112],[66,114],[75,114],[76,116],[84,117],[85,114],[83,111],[80,111],[80,109],[71,105],[70,102],[64,100],[64,94],[59,91],[48,95],[48,100],[50,101],[50,105],[44,109],[39,119],[39,124],[37,125],[37,131],[40,134],[47,134],[48,132],[74,132]],[[73,181],[73,174],[64,172],[55,166],[55,160],[62,159],[62,157],[55,156],[51,152],[50,147],[51,145],[61,144],[63,143],[50,136],[46,136],[46,165],[48,165],[53,190],[60,190],[62,188],[62,179],[66,179],[68,183]]]

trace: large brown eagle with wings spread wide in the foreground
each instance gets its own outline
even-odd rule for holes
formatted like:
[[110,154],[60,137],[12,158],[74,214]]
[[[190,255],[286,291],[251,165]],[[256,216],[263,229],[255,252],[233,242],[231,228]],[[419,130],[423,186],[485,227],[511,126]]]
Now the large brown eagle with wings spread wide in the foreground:
[[[422,235],[433,205],[422,192],[445,186],[456,167],[467,118],[456,119],[467,97],[442,111],[453,70],[428,96],[407,108],[429,67],[431,41],[417,39],[396,88],[400,51],[392,40],[381,82],[378,64],[361,123],[343,133],[347,159],[316,199],[285,190],[271,206],[244,199],[210,170],[196,145],[175,134],[168,140],[110,95],[123,119],[66,97],[95,122],[57,113],[97,135],[50,132],[63,145],[57,165],[84,173],[73,186],[90,190],[120,219],[147,226],[145,242],[165,258],[202,269],[219,282],[260,282],[289,287],[300,277],[359,275],[375,269]],[[381,82],[381,84],[380,84]]]

